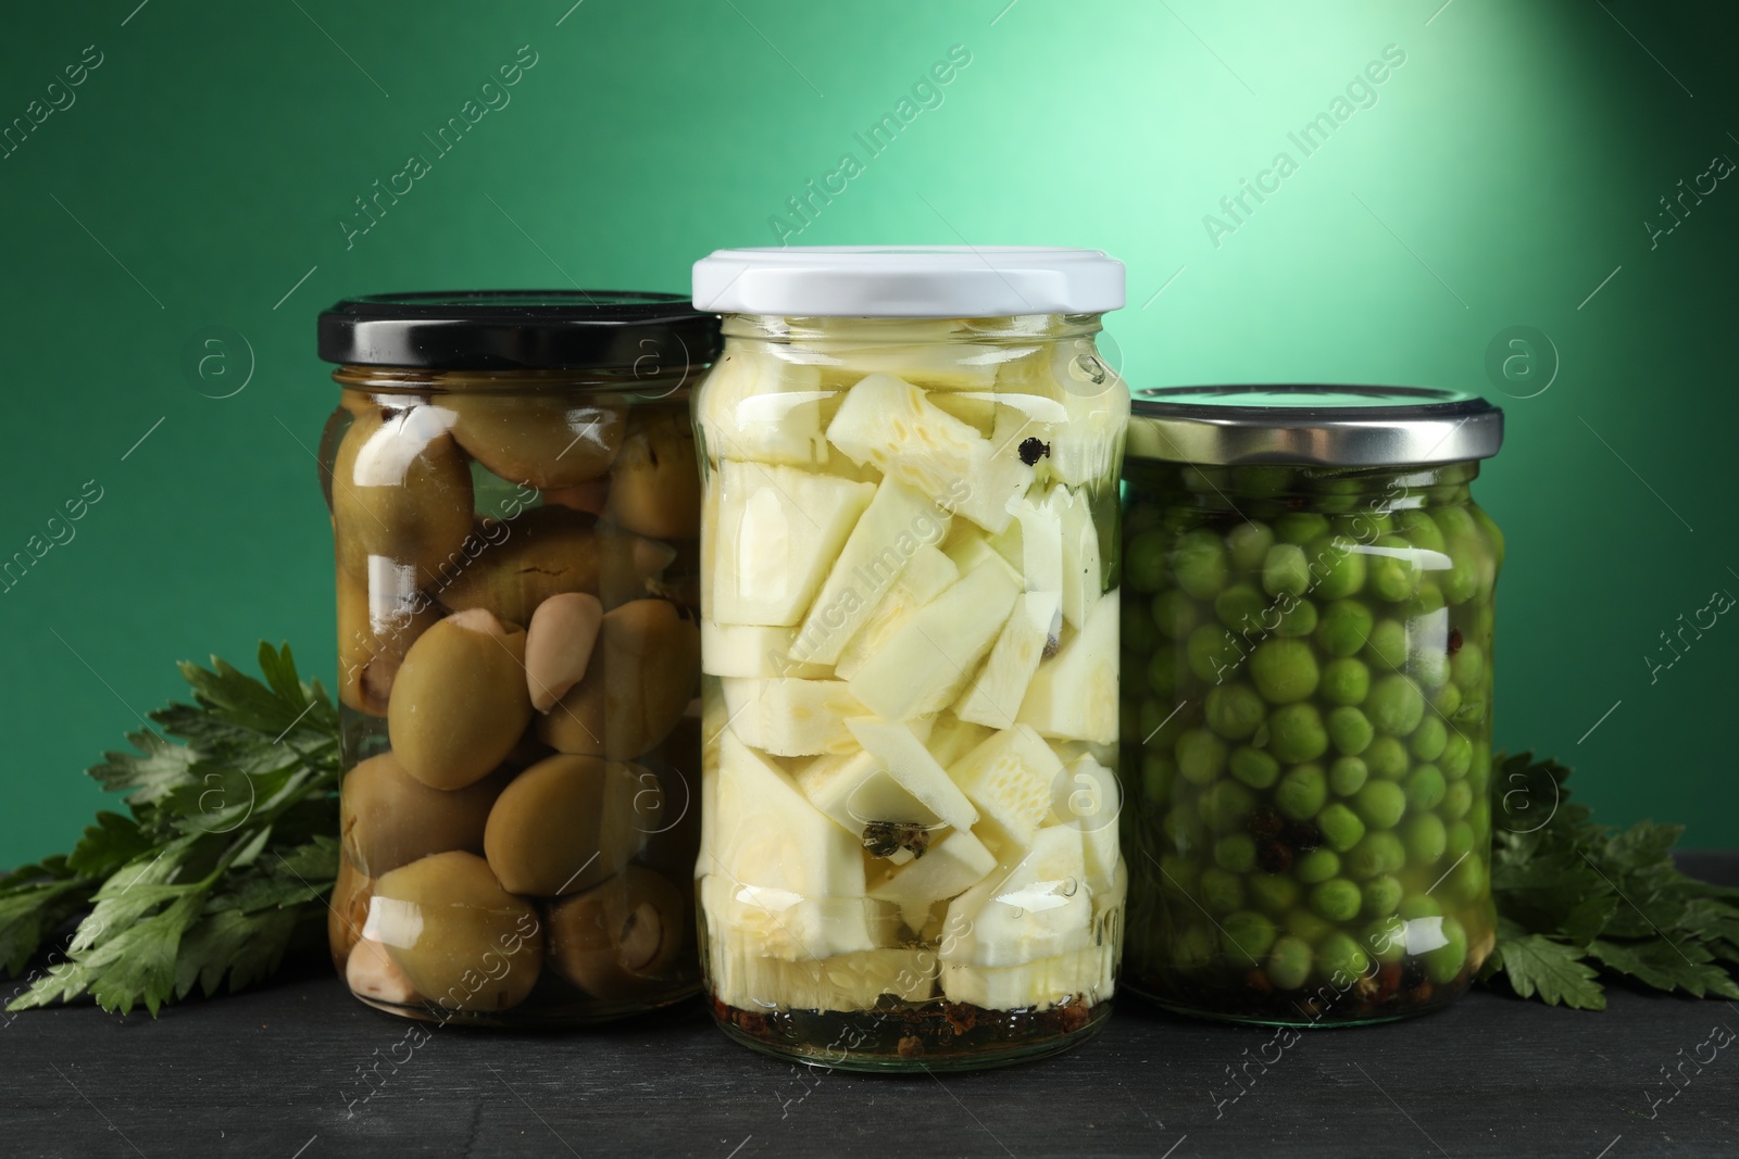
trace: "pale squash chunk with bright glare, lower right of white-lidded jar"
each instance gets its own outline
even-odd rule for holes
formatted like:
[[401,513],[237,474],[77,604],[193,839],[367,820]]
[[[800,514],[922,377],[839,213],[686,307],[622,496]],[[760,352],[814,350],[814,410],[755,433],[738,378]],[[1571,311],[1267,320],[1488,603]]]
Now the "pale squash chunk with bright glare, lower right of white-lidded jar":
[[970,966],[1019,966],[1087,949],[1092,897],[1082,836],[1068,825],[1038,831],[1031,851],[1007,872],[991,872],[948,904],[941,959]]

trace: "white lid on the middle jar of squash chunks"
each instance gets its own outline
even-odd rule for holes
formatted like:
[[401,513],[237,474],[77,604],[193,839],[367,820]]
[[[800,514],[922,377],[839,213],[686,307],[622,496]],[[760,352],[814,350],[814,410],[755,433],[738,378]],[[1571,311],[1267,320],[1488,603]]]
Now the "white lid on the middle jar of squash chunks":
[[713,250],[694,306],[795,318],[1099,315],[1123,306],[1123,262],[1026,245],[805,245]]

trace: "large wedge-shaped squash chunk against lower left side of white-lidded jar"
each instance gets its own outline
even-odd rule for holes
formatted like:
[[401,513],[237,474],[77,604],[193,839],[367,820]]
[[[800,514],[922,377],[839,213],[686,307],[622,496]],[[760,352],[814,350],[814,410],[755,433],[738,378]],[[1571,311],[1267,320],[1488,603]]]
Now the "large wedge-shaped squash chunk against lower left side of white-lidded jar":
[[758,886],[798,898],[864,897],[863,846],[810,805],[784,770],[729,730],[720,737],[713,813],[711,864],[704,872],[732,888]]

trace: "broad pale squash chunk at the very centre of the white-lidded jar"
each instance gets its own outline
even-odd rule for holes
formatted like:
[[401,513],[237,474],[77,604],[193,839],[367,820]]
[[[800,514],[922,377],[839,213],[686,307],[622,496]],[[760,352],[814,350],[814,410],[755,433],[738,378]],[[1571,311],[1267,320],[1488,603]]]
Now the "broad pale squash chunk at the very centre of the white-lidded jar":
[[[969,572],[889,634],[850,678],[852,695],[889,721],[946,707],[996,643],[1019,594],[1000,560]],[[1115,652],[1115,638],[1111,645]]]

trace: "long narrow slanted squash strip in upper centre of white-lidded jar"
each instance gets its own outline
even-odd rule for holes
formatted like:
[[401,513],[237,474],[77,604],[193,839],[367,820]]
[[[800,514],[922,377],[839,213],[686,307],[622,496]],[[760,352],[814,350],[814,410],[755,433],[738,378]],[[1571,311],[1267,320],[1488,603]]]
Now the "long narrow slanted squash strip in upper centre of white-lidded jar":
[[883,478],[796,632],[796,655],[809,664],[835,664],[918,547],[941,542],[948,525],[946,511],[899,480]]

